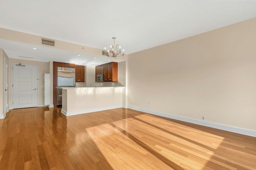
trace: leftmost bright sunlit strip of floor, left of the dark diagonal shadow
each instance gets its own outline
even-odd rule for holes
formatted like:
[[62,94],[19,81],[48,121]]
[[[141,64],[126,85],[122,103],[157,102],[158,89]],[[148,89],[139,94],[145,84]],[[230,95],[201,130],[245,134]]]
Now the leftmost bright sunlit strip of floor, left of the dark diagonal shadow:
[[[113,125],[98,125],[86,128],[86,131],[114,170],[126,168],[134,170],[158,169],[152,160],[146,156],[150,154],[146,149],[137,145]],[[165,166],[166,169],[172,169],[160,160],[158,164]]]

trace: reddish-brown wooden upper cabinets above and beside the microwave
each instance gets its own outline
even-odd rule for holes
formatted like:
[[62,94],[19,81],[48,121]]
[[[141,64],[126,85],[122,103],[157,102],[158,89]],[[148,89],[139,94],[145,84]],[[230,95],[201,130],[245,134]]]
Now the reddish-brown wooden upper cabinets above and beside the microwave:
[[[95,67],[95,74],[104,74],[104,82],[118,81],[118,63],[111,62]],[[96,81],[96,76],[95,76]]]

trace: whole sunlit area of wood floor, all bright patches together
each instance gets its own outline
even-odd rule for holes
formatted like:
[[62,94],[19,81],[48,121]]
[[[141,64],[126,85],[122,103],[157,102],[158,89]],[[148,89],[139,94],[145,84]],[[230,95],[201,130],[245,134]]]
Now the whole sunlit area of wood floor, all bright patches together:
[[[194,168],[203,169],[222,142],[222,139],[209,139],[207,143],[202,143],[200,137],[187,131],[186,127],[168,126],[164,119],[152,122],[145,115],[90,127],[86,131],[113,169],[120,169],[125,164],[132,164],[136,170],[155,169],[157,167],[150,162],[152,156],[169,169],[171,167],[162,160],[168,159],[185,169],[184,162],[190,167],[194,165]],[[196,154],[196,150],[205,153],[197,154],[199,160],[190,156]],[[151,156],[148,157],[149,154]]]

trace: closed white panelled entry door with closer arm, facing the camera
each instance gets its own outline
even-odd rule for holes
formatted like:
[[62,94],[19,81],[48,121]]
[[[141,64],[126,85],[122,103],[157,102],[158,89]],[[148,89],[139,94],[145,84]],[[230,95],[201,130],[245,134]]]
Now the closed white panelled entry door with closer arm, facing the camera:
[[38,66],[13,64],[13,108],[37,107]]

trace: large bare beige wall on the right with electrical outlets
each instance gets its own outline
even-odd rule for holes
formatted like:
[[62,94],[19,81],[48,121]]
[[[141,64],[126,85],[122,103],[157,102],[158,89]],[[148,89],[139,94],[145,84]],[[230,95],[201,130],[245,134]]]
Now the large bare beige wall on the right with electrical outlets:
[[128,105],[255,131],[255,30],[256,18],[129,55]]

